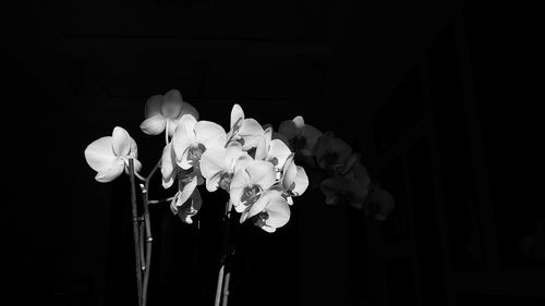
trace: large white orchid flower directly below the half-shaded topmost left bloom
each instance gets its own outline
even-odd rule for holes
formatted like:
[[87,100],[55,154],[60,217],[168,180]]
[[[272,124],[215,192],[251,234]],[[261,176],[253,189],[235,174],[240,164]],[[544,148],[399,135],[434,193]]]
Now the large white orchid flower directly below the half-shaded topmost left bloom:
[[226,131],[221,125],[204,120],[197,122],[193,115],[184,114],[172,137],[175,161],[184,170],[198,167],[201,156],[207,149],[223,147],[226,142]]

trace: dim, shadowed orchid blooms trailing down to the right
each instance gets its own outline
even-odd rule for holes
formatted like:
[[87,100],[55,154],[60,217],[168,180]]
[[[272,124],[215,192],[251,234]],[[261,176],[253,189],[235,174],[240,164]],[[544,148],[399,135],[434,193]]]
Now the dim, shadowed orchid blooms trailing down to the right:
[[393,197],[372,182],[361,155],[332,132],[322,133],[302,117],[295,117],[280,124],[279,137],[306,166],[311,179],[319,178],[313,182],[325,195],[326,204],[348,203],[379,221],[386,220],[393,209]]

